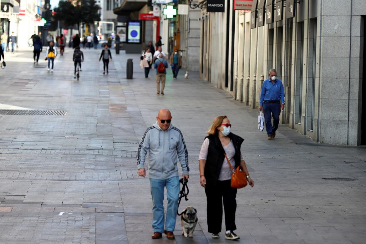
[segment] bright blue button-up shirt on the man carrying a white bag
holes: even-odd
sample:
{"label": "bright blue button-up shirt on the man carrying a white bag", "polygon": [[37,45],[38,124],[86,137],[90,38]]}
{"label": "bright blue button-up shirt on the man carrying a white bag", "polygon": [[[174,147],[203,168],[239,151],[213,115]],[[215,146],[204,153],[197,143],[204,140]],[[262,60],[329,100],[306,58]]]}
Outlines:
{"label": "bright blue button-up shirt on the man carrying a white bag", "polygon": [[271,79],[266,79],[263,82],[259,105],[263,106],[263,101],[277,100],[281,100],[281,103],[285,103],[285,89],[283,88],[281,80],[276,79],[275,83],[272,84]]}

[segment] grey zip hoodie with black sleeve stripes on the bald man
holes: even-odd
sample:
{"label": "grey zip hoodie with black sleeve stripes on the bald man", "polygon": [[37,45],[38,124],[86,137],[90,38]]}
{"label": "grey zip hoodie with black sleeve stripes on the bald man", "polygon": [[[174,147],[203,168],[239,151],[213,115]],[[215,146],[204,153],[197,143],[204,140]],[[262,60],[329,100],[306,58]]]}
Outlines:
{"label": "grey zip hoodie with black sleeve stripes on the bald man", "polygon": [[145,168],[145,157],[149,152],[149,175],[151,179],[165,180],[178,175],[178,160],[183,174],[188,174],[188,151],[182,132],[172,124],[165,131],[156,121],[143,134],[137,152],[137,169]]}

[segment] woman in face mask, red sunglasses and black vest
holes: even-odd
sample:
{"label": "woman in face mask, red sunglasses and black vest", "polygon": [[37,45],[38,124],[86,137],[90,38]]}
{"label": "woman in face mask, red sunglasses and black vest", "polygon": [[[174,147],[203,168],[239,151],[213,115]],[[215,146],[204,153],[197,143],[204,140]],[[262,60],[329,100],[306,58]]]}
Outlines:
{"label": "woman in face mask, red sunglasses and black vest", "polygon": [[240,153],[240,146],[244,139],[231,133],[230,129],[231,124],[228,117],[217,116],[206,132],[209,135],[202,144],[198,160],[200,183],[205,188],[207,198],[208,232],[212,233],[212,238],[220,238],[223,218],[222,202],[224,202],[225,239],[237,240],[240,237],[233,232],[236,230],[237,189],[231,187],[232,169],[226,157],[234,169],[239,165],[242,166],[251,187],[254,186],[254,181],[250,178]]}

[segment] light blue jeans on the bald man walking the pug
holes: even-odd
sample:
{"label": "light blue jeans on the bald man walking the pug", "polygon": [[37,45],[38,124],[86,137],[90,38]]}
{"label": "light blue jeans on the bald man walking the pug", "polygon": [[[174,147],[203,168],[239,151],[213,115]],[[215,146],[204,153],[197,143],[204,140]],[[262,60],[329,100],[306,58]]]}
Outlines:
{"label": "light blue jeans on the bald man walking the pug", "polygon": [[175,220],[178,210],[178,199],[180,192],[179,177],[174,176],[166,180],[150,179],[151,196],[153,199],[153,230],[164,232],[164,187],[167,188],[167,220],[165,230],[174,231]]}

